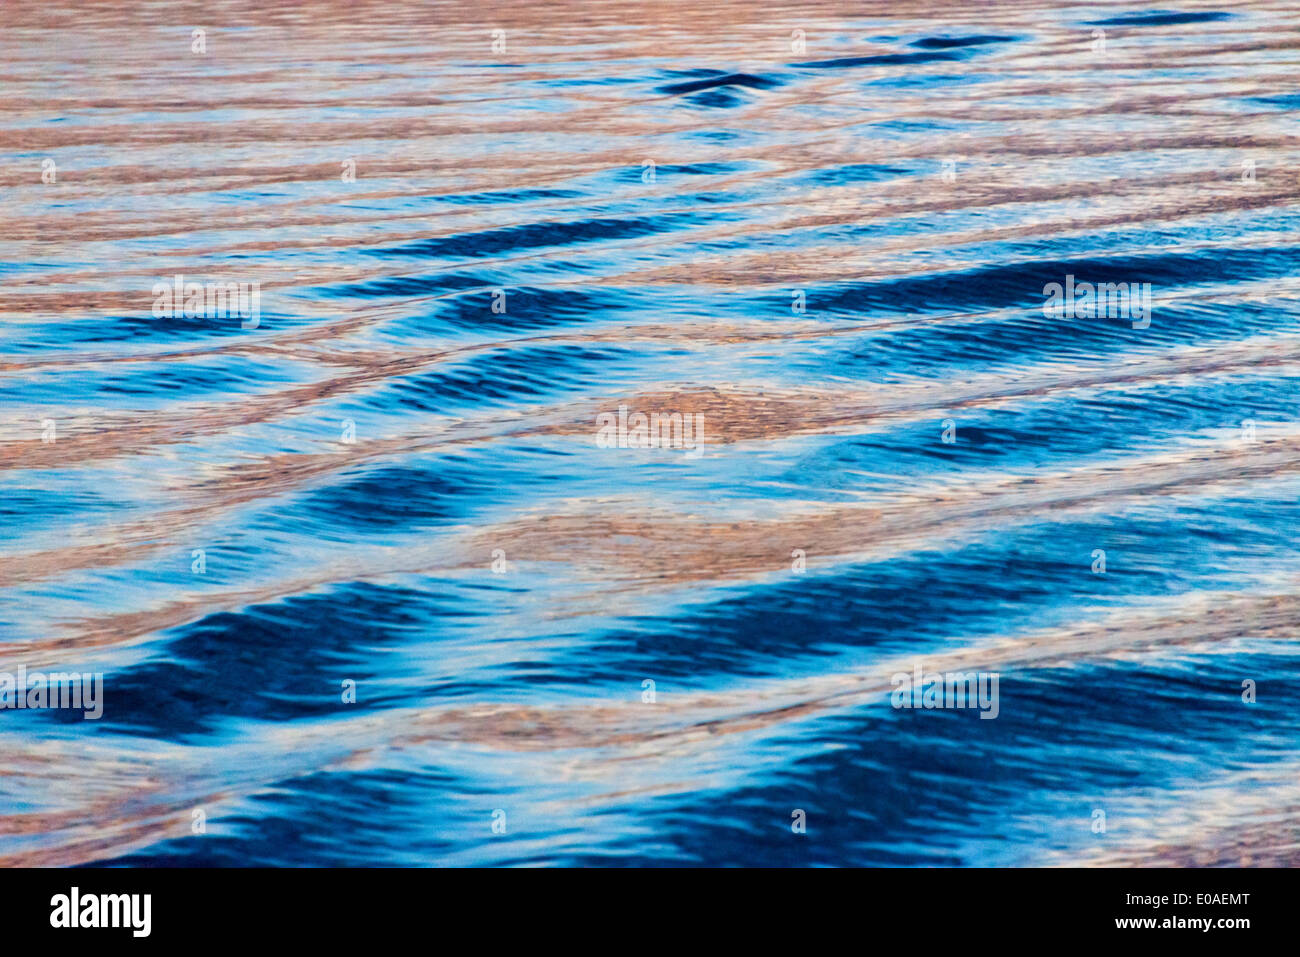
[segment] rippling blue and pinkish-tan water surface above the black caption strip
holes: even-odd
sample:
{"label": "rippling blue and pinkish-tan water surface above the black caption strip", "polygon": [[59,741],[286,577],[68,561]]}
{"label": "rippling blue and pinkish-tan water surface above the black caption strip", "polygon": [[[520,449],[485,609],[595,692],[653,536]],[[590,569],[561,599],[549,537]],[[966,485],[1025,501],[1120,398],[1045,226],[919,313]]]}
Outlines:
{"label": "rippling blue and pinkish-tan water surface above the black caption strip", "polygon": [[0,862],[1300,856],[1294,3],[0,17]]}

